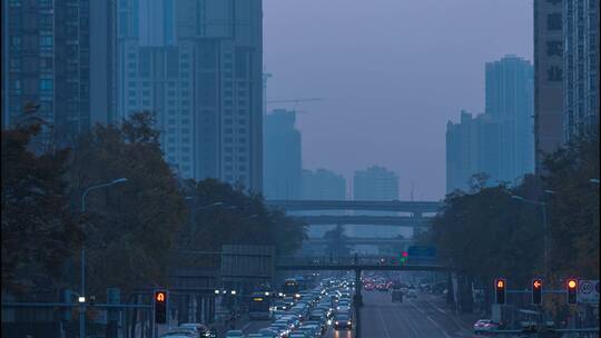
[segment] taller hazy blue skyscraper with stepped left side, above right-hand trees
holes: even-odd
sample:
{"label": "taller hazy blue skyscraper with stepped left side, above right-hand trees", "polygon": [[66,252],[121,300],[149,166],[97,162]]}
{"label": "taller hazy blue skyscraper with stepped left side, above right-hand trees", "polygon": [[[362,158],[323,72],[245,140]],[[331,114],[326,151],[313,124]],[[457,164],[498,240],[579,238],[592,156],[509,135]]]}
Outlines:
{"label": "taller hazy blue skyscraper with stepped left side, above right-hand trees", "polygon": [[486,63],[485,113],[500,126],[499,179],[534,170],[533,69],[515,56]]}

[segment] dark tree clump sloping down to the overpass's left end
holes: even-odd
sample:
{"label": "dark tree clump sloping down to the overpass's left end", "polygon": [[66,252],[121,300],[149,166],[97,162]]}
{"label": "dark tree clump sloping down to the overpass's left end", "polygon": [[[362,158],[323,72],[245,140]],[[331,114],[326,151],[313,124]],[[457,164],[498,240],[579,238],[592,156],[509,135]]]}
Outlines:
{"label": "dark tree clump sloping down to the overpass's left end", "polygon": [[180,232],[181,248],[220,251],[221,245],[262,245],[288,255],[306,238],[305,223],[267,209],[260,195],[216,179],[188,185],[191,221]]}

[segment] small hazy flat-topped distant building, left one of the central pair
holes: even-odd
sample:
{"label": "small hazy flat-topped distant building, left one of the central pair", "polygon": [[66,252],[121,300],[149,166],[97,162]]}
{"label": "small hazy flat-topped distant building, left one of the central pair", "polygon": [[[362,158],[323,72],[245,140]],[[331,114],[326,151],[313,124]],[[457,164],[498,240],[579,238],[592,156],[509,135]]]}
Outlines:
{"label": "small hazy flat-topped distant building, left one of the central pair", "polygon": [[303,169],[303,199],[345,200],[346,180],[342,175],[326,170]]}

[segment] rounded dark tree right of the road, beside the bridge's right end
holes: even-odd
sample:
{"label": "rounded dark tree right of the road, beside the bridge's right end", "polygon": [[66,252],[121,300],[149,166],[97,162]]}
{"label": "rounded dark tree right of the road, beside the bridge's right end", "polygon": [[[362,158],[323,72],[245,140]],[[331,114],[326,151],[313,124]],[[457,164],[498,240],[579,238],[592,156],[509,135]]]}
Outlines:
{"label": "rounded dark tree right of the road, beside the bridge's right end", "polygon": [[513,193],[505,186],[482,186],[473,193],[449,195],[425,235],[443,262],[481,285],[492,286],[500,276],[528,285],[542,262],[542,225],[540,213]]}

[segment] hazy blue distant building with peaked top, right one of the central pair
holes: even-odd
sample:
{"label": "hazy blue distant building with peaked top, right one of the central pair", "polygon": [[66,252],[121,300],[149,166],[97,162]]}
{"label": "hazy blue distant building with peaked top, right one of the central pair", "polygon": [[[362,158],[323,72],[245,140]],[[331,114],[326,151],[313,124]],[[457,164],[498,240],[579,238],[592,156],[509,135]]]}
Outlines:
{"label": "hazy blue distant building with peaked top, right one of the central pair", "polygon": [[355,171],[353,179],[354,200],[397,200],[398,176],[386,168],[372,166]]}

